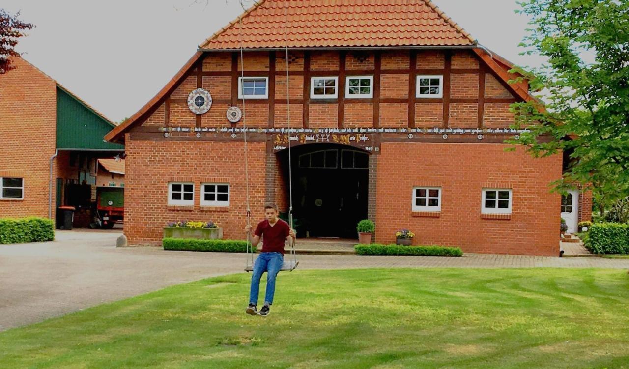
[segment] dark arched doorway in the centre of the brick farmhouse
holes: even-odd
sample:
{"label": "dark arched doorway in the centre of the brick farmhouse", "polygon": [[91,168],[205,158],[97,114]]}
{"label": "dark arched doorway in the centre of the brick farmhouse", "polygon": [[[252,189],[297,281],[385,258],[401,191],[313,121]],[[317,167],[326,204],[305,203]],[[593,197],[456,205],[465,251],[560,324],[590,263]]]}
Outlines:
{"label": "dark arched doorway in the centre of the brick farmhouse", "polygon": [[[286,170],[288,150],[279,153]],[[357,238],[356,224],[367,218],[369,153],[346,145],[313,143],[291,148],[292,206],[302,237]]]}

